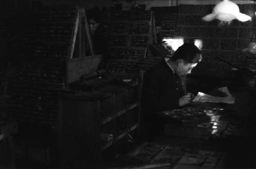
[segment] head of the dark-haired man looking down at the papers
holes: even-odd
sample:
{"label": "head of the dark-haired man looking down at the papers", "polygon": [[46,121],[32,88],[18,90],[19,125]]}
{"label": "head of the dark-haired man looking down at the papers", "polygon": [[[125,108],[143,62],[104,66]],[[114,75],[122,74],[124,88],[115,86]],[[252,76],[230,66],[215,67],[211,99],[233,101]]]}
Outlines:
{"label": "head of the dark-haired man looking down at the papers", "polygon": [[170,58],[176,63],[176,73],[179,76],[190,74],[191,70],[202,60],[201,51],[193,43],[184,43]]}

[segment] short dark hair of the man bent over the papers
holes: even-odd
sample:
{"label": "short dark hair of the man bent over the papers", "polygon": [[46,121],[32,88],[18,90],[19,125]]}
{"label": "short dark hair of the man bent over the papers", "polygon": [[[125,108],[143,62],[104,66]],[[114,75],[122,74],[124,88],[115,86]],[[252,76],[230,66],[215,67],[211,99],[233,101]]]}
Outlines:
{"label": "short dark hair of the man bent over the papers", "polygon": [[185,63],[198,63],[202,60],[201,51],[193,43],[184,43],[170,58],[173,61],[183,59]]}

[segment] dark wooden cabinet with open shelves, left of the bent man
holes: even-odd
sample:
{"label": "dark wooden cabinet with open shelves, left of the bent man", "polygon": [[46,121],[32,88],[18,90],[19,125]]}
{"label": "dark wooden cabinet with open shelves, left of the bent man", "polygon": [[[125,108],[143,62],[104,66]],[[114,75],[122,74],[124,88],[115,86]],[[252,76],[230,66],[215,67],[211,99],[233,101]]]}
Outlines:
{"label": "dark wooden cabinet with open shelves, left of the bent man", "polygon": [[101,162],[139,143],[138,83],[106,85],[98,91],[61,93],[59,148],[62,166]]}

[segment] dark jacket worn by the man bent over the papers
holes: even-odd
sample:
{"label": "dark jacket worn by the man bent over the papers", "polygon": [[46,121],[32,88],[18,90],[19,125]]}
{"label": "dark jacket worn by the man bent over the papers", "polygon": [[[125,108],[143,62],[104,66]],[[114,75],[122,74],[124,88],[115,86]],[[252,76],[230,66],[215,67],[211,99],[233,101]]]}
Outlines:
{"label": "dark jacket worn by the man bent over the papers", "polygon": [[142,111],[144,118],[155,116],[158,111],[179,107],[184,95],[181,78],[173,73],[165,60],[148,69],[143,76]]}

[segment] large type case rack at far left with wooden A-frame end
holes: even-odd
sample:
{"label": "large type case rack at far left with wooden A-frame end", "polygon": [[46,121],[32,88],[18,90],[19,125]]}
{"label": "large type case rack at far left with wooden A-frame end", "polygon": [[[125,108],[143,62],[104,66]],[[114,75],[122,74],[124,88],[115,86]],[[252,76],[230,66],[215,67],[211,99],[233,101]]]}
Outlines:
{"label": "large type case rack at far left with wooden A-frame end", "polygon": [[[96,71],[101,55],[93,53],[83,9],[52,4],[36,6],[28,13],[28,16],[19,18],[24,20],[16,19],[23,22],[19,31],[15,32],[22,39],[15,52],[18,56],[15,56],[15,60],[4,59],[5,66],[0,68],[0,74],[4,77],[1,80],[0,116],[26,126],[19,130],[19,133],[23,133],[20,134],[22,138],[17,138],[15,143],[16,147],[22,148],[22,161],[39,161],[40,165],[48,165],[49,160],[33,157],[30,150],[48,150],[51,147],[54,149],[51,152],[56,152],[58,92],[66,90],[69,83],[77,81],[81,75]],[[13,22],[13,27],[17,27]],[[8,28],[2,26],[1,34],[14,34]],[[9,56],[10,53],[4,53],[4,57],[13,58]],[[39,139],[27,137],[37,133]],[[46,145],[41,147],[41,143]],[[35,154],[38,153],[42,151]],[[56,156],[54,153],[42,158],[50,159],[50,163],[58,163]]]}

